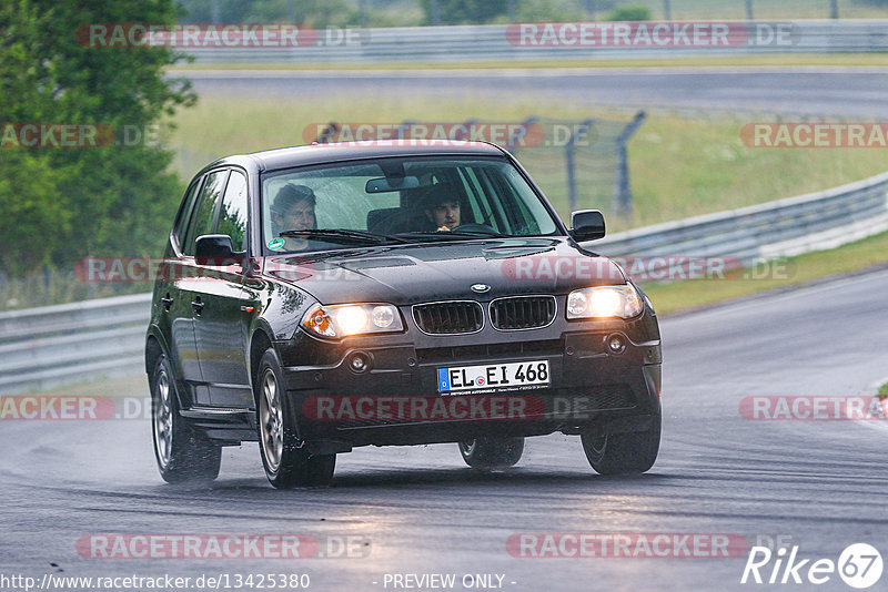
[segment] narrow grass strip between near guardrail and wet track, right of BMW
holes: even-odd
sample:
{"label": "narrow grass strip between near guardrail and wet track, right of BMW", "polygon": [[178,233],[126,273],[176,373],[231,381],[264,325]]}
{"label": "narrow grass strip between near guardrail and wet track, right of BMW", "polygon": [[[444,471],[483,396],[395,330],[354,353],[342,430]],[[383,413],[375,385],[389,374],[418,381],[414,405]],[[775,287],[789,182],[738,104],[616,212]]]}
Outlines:
{"label": "narrow grass strip between near guardrail and wet track, right of BMW", "polygon": [[670,284],[648,282],[642,283],[642,289],[650,297],[658,314],[668,315],[760,292],[790,289],[824,277],[849,274],[876,266],[888,268],[888,233],[870,236],[838,248],[778,261],[775,266],[770,267],[775,269],[773,275],[780,276],[777,278],[727,277]]}

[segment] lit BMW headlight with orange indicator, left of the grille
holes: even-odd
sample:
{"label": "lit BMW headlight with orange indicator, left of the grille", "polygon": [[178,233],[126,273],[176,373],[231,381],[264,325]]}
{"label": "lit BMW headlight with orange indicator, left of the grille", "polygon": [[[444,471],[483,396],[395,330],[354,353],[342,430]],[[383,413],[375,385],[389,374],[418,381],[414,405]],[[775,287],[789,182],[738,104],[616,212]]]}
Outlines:
{"label": "lit BMW headlight with orange indicator, left of the grille", "polygon": [[404,330],[401,314],[391,304],[316,304],[302,317],[301,325],[321,337]]}

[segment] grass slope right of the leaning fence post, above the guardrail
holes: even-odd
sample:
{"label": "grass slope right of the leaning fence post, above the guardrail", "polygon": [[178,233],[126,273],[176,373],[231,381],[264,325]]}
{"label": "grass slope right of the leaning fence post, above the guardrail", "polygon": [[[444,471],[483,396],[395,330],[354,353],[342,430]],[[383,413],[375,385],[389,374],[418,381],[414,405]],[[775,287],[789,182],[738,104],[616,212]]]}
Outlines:
{"label": "grass slope right of the leaning fence post, above the guardrail", "polygon": [[658,116],[646,122],[629,144],[633,224],[769,202],[888,170],[882,150],[747,147],[738,139],[741,123]]}

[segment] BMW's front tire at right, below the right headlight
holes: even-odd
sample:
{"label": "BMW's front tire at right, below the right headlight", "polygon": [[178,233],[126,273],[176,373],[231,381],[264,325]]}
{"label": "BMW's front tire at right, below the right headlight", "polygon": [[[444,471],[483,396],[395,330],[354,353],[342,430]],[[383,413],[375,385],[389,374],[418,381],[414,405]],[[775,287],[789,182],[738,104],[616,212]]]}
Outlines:
{"label": "BMW's front tire at right, below the right headlight", "polygon": [[599,474],[643,473],[654,466],[659,451],[660,416],[646,431],[627,433],[585,432],[583,451]]}

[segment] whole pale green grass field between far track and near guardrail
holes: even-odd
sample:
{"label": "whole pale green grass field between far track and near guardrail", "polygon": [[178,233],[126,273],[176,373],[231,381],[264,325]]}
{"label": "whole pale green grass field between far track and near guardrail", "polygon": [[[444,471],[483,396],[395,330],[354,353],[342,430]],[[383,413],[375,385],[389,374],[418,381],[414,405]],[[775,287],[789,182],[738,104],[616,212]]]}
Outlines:
{"label": "whole pale green grass field between far track and near guardrail", "polygon": [[[176,164],[190,178],[220,156],[302,144],[303,131],[311,123],[455,122],[473,118],[509,122],[532,114],[574,121],[627,120],[630,115],[521,98],[506,102],[418,94],[261,100],[203,95],[196,108],[178,116],[179,127],[171,141],[179,149]],[[704,121],[650,114],[629,144],[636,213],[629,220],[608,215],[612,232],[819,191],[888,170],[888,152],[880,150],[747,147],[740,142],[740,127],[749,121],[769,119],[720,118]],[[518,159],[559,215],[569,220],[563,149],[524,149],[518,151]],[[593,152],[577,153],[578,207],[598,207],[608,213],[612,169]]]}

